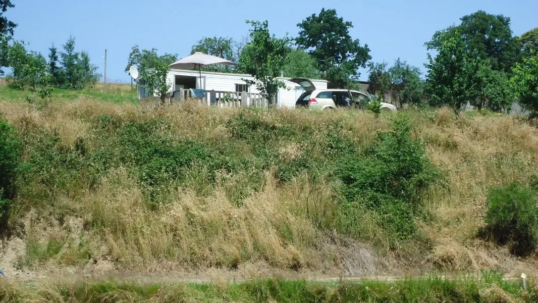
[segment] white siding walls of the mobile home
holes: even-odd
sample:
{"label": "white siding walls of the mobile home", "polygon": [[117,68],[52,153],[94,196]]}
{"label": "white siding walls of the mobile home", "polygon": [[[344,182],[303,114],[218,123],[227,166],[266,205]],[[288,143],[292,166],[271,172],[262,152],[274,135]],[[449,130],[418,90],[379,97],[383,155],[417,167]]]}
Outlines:
{"label": "white siding walls of the mobile home", "polygon": [[[196,87],[200,86],[200,74],[197,71],[180,71],[172,70],[168,72],[167,81],[169,81],[170,90],[173,90],[175,84],[175,75],[181,76],[193,76],[196,77]],[[253,80],[252,76],[237,75],[237,74],[223,74],[223,73],[208,73],[202,72],[202,88],[206,90],[220,90],[220,91],[235,91],[235,84],[245,84],[243,79]],[[295,108],[296,100],[296,87],[299,85],[293,82],[289,82],[289,78],[279,78],[286,83],[285,89],[279,90],[279,106],[287,108]],[[324,80],[312,80],[312,83],[317,89],[327,89],[327,81]],[[250,86],[250,93],[259,93],[256,86]]]}

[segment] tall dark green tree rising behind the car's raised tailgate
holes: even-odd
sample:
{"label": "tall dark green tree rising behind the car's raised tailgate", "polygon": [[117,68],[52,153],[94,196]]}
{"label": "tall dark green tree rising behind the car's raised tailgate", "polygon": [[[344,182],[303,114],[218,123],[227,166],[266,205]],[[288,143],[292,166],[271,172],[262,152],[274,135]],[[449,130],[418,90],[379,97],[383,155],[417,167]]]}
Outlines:
{"label": "tall dark green tree rising behind the car's raised tailgate", "polygon": [[360,46],[353,40],[349,29],[351,22],[344,22],[336,10],[325,10],[316,16],[307,17],[297,26],[301,29],[296,44],[309,51],[316,58],[324,79],[332,88],[345,88],[350,78],[356,80],[359,67],[366,67],[372,57],[367,45]]}

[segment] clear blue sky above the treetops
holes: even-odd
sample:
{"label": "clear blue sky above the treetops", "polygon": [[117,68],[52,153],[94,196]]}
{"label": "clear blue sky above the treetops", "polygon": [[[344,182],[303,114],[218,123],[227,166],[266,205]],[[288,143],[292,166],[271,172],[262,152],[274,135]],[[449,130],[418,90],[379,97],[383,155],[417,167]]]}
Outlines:
{"label": "clear blue sky above the treetops", "polygon": [[[131,46],[157,48],[159,53],[185,57],[202,37],[247,36],[245,19],[269,21],[277,36],[298,33],[296,26],[322,7],[334,8],[353,22],[353,38],[369,45],[372,60],[393,62],[400,57],[423,69],[424,42],[436,30],[458,23],[477,10],[512,19],[514,34],[538,27],[538,0],[374,0],[374,1],[257,1],[257,0],[12,0],[15,8],[6,16],[18,23],[15,38],[30,43],[30,50],[45,56],[54,43],[61,47],[69,35],[77,50],[89,52],[103,73],[104,50],[108,50],[109,81],[129,81],[124,72]],[[364,79],[365,72],[361,78]]]}

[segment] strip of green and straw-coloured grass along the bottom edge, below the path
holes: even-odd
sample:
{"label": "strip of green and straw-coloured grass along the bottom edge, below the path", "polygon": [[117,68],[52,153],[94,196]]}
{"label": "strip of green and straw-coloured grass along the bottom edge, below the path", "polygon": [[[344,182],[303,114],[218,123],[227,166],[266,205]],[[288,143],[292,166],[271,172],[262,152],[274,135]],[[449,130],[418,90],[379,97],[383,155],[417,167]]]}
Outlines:
{"label": "strip of green and straw-coloured grass along the bottom edge, below the path", "polygon": [[245,283],[145,284],[89,282],[57,283],[48,288],[20,286],[3,281],[5,302],[46,302],[51,298],[70,302],[534,302],[534,282],[527,292],[518,281],[484,273],[482,279],[437,277],[386,281],[340,281],[266,279]]}

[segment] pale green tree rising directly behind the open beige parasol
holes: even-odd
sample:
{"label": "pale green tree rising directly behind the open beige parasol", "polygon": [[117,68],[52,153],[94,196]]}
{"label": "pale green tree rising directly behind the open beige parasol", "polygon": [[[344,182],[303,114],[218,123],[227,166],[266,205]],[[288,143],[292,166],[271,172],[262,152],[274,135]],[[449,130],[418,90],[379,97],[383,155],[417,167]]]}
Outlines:
{"label": "pale green tree rising directly behind the open beige parasol", "polygon": [[[195,45],[193,45],[190,51],[190,54],[194,54],[196,52],[202,52],[204,54],[214,55],[216,57],[230,60],[232,62],[236,61],[237,59],[233,52],[233,39],[231,38],[204,37],[203,39],[199,40]],[[224,66],[224,65],[211,65],[211,66],[203,67],[202,69],[209,72],[226,73],[226,72],[232,72],[236,68],[231,67],[231,66]]]}

